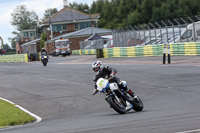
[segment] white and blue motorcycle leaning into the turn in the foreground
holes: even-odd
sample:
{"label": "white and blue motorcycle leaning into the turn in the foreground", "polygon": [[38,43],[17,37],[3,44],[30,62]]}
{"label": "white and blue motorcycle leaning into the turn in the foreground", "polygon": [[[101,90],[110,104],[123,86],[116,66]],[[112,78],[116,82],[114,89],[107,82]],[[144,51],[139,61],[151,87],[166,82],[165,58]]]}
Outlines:
{"label": "white and blue motorcycle leaning into the turn in the foreground", "polygon": [[[125,81],[122,81],[126,84]],[[123,89],[120,89],[117,83],[109,83],[109,79],[99,78],[97,80],[97,90],[104,95],[105,100],[119,114],[125,114],[131,109],[136,112],[144,108],[142,100],[135,94],[134,97],[129,95]]]}

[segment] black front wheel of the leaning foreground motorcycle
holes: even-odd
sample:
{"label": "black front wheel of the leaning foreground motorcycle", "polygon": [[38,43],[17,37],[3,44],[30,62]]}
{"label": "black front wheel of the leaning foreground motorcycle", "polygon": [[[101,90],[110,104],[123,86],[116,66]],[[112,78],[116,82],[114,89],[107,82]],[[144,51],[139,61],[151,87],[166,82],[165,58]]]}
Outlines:
{"label": "black front wheel of the leaning foreground motorcycle", "polygon": [[115,98],[112,96],[109,96],[107,99],[107,102],[110,104],[110,106],[119,114],[125,114],[126,113],[126,109],[125,107],[120,107],[115,101]]}

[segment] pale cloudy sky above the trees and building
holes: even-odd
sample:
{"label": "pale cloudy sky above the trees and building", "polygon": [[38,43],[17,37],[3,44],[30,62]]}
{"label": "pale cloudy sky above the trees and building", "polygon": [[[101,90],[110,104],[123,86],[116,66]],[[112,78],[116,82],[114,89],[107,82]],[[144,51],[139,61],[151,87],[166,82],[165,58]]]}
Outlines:
{"label": "pale cloudy sky above the trees and building", "polygon": [[[68,0],[68,3],[87,3],[89,6],[93,0]],[[11,34],[15,28],[11,25],[11,13],[18,5],[26,5],[29,11],[35,11],[39,18],[43,17],[44,11],[48,8],[57,8],[61,10],[63,8],[63,0],[0,0],[0,36],[4,40],[4,44],[10,42],[9,37],[13,37]]]}

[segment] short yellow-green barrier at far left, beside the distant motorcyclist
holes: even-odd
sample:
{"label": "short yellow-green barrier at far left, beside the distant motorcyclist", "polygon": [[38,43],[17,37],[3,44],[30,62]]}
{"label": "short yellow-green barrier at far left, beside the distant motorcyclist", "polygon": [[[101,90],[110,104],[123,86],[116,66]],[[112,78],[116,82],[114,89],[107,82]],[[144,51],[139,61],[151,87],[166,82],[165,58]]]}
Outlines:
{"label": "short yellow-green barrier at far left, beside the distant motorcyclist", "polygon": [[25,63],[28,62],[27,54],[1,55],[0,63]]}

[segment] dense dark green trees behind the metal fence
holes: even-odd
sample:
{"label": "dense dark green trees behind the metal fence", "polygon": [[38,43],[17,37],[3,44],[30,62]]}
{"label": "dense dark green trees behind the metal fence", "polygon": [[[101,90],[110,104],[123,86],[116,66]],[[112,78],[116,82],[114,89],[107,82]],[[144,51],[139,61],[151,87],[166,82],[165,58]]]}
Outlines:
{"label": "dense dark green trees behind the metal fence", "polygon": [[200,0],[97,0],[90,12],[100,13],[99,27],[115,29],[200,15]]}

